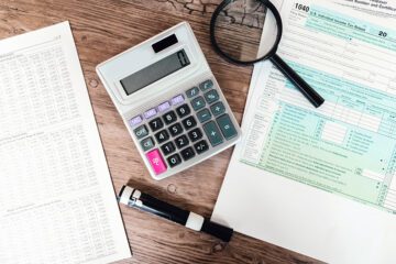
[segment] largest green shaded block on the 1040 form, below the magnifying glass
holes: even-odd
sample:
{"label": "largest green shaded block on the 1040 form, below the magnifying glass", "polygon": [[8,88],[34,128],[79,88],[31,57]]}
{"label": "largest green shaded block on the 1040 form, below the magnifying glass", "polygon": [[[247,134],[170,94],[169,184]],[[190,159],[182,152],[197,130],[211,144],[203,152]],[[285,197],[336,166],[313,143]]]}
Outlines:
{"label": "largest green shaded block on the 1040 form, below the magnifying glass", "polygon": [[260,162],[242,162],[382,208],[392,178],[375,180],[362,173],[391,176],[396,140],[339,122],[346,129],[343,141],[326,141],[321,139],[326,122],[337,121],[292,105],[280,106]]}

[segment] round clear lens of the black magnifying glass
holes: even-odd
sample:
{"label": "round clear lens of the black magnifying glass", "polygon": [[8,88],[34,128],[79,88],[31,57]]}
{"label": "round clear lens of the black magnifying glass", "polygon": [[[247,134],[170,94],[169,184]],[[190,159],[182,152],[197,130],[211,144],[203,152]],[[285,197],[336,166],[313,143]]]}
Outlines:
{"label": "round clear lens of the black magnifying glass", "polygon": [[257,0],[224,1],[213,30],[220,52],[241,63],[270,55],[278,33],[272,11]]}

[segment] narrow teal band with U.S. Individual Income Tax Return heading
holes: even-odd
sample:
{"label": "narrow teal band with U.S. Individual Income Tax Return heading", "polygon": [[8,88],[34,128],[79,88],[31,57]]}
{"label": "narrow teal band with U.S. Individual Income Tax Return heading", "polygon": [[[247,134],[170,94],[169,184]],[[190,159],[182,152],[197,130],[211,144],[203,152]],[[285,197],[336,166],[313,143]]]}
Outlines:
{"label": "narrow teal band with U.S. Individual Income Tax Return heading", "polygon": [[396,31],[348,18],[318,6],[310,7],[306,26],[343,40],[359,40],[396,51]]}

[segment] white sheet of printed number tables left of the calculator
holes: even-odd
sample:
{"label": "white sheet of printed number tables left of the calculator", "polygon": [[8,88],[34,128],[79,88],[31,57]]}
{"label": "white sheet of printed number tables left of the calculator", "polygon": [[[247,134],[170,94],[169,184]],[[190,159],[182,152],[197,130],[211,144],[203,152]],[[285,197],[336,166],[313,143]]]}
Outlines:
{"label": "white sheet of printed number tables left of the calculator", "polygon": [[0,263],[131,256],[67,22],[0,42]]}

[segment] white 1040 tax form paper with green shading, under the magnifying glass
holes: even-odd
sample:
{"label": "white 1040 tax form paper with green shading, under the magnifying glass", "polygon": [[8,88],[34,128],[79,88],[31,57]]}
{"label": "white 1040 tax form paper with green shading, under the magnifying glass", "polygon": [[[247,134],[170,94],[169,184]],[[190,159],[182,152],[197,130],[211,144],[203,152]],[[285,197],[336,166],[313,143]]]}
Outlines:
{"label": "white 1040 tax form paper with green shading, under the magnifying glass", "polygon": [[330,263],[396,263],[396,21],[329,1],[277,6],[278,54],[326,102],[255,66],[212,219]]}

